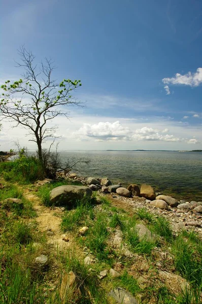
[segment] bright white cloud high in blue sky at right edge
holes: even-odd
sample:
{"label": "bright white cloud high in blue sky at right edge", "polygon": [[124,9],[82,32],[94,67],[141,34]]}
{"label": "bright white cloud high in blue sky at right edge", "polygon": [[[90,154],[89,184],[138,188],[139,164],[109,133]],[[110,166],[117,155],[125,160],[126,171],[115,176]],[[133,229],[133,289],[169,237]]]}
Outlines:
{"label": "bright white cloud high in blue sky at right edge", "polygon": [[162,82],[166,85],[185,85],[190,87],[198,87],[202,83],[202,67],[197,68],[196,72],[181,75],[175,74],[172,78],[163,78]]}

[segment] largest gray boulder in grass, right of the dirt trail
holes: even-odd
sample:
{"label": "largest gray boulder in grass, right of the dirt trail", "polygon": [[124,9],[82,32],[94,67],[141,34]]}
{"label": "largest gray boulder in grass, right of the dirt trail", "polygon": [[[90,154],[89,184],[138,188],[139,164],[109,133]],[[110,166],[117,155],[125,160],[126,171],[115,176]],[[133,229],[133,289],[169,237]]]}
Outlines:
{"label": "largest gray boulder in grass, right of the dirt trail", "polygon": [[52,189],[50,193],[50,203],[55,205],[74,205],[76,201],[84,196],[90,197],[91,189],[85,186],[64,185]]}

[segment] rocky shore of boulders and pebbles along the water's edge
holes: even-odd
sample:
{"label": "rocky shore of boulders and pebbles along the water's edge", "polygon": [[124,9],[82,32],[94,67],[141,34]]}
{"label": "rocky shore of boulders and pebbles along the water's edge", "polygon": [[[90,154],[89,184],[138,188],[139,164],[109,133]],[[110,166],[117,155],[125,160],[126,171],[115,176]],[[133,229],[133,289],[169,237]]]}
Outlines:
{"label": "rocky shore of boulders and pebbles along the water's edge", "polygon": [[84,185],[97,191],[100,196],[108,196],[117,201],[120,207],[131,206],[133,209],[146,208],[155,215],[166,217],[173,227],[174,233],[181,230],[195,230],[202,238],[202,202],[177,200],[171,196],[155,193],[147,184],[141,186],[130,184],[127,188],[121,183],[113,185],[108,178],[81,177],[76,173],[64,176],[76,185]]}

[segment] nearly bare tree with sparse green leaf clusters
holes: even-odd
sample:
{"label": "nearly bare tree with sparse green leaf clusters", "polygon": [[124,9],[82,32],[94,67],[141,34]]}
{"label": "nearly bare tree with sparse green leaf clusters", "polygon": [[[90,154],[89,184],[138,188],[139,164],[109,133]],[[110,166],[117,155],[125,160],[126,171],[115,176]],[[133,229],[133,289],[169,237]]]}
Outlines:
{"label": "nearly bare tree with sparse green leaf clusters", "polygon": [[4,93],[0,99],[2,119],[8,119],[29,130],[30,141],[38,146],[38,158],[43,162],[42,142],[47,137],[54,137],[55,127],[47,123],[57,116],[68,118],[70,112],[64,108],[71,105],[82,105],[73,95],[81,86],[80,80],[64,79],[61,83],[52,80],[53,61],[45,58],[38,66],[31,51],[21,47],[18,51],[20,63],[24,68],[21,79],[15,82],[6,81],[1,88]]}

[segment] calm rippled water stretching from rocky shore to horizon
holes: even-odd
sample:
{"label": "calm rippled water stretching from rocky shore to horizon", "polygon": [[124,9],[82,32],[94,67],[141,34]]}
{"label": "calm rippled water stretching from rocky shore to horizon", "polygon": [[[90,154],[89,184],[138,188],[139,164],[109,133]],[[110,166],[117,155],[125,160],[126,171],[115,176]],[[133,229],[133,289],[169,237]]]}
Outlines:
{"label": "calm rippled water stretching from rocky shore to horizon", "polygon": [[156,151],[62,151],[61,157],[85,158],[80,175],[109,177],[113,183],[148,183],[177,198],[202,200],[202,153]]}

